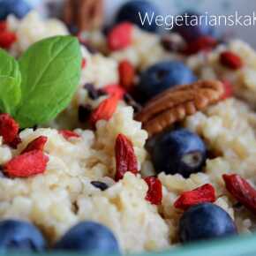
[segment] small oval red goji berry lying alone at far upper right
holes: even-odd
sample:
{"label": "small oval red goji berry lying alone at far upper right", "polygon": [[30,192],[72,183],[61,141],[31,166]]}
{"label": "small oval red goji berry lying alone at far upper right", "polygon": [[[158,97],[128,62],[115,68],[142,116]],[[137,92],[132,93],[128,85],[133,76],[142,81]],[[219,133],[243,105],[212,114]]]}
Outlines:
{"label": "small oval red goji berry lying alone at far upper right", "polygon": [[243,67],[243,61],[240,56],[237,56],[232,51],[223,51],[220,55],[220,62],[227,68],[238,70]]}

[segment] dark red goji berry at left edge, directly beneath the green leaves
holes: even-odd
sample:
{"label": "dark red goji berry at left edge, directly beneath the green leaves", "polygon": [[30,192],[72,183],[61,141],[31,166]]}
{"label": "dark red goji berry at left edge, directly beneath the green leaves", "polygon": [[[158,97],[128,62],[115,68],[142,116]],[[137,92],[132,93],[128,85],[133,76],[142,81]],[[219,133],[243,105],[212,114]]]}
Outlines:
{"label": "dark red goji berry at left edge, directly beneath the green leaves", "polygon": [[0,136],[3,137],[4,143],[9,144],[17,138],[19,133],[19,124],[9,115],[0,115]]}

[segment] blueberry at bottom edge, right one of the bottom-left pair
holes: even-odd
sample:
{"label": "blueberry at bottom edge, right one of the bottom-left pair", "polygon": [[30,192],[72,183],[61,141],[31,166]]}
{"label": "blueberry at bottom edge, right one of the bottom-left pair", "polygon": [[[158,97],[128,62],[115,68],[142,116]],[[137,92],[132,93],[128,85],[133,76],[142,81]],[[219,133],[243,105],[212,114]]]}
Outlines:
{"label": "blueberry at bottom edge, right one of the bottom-left pair", "polygon": [[58,251],[84,252],[86,254],[119,254],[116,237],[97,222],[80,222],[72,227],[54,246]]}

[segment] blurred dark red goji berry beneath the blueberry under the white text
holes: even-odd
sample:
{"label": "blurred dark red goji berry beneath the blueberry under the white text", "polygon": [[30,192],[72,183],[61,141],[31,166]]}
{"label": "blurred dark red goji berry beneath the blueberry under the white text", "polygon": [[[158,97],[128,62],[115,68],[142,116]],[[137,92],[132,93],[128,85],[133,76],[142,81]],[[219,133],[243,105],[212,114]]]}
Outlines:
{"label": "blurred dark red goji berry beneath the blueberry under the white text", "polygon": [[192,41],[187,45],[187,48],[184,49],[184,54],[192,55],[202,50],[208,51],[215,48],[216,45],[217,45],[217,41],[214,37],[201,36],[197,40]]}

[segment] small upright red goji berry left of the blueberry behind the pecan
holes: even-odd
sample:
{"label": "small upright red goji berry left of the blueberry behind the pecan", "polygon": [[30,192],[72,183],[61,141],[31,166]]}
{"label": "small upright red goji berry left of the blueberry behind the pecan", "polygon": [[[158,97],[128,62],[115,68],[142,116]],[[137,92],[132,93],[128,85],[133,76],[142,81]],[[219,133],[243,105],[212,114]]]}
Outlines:
{"label": "small upright red goji berry left of the blueberry behind the pecan", "polygon": [[135,69],[133,65],[128,60],[124,60],[119,63],[118,71],[120,85],[128,91],[131,90],[135,78]]}

